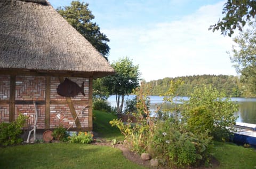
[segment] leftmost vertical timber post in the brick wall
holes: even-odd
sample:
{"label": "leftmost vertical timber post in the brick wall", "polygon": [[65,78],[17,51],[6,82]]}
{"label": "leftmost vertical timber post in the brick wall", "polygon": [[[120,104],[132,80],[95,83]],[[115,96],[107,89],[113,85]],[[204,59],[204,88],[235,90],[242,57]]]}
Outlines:
{"label": "leftmost vertical timber post in the brick wall", "polygon": [[10,76],[10,100],[9,100],[9,122],[15,120],[15,90],[16,90],[16,76]]}

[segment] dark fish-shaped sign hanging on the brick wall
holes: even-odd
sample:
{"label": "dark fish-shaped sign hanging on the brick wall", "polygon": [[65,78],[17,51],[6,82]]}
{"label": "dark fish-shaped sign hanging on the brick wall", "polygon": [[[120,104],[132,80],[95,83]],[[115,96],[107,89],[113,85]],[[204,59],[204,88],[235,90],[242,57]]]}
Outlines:
{"label": "dark fish-shaped sign hanging on the brick wall", "polygon": [[84,96],[84,82],[82,83],[82,86],[79,87],[78,84],[76,84],[73,81],[70,81],[70,79],[65,78],[65,81],[60,83],[57,88],[57,93],[61,96],[65,97],[72,97],[78,95],[78,93],[81,92]]}

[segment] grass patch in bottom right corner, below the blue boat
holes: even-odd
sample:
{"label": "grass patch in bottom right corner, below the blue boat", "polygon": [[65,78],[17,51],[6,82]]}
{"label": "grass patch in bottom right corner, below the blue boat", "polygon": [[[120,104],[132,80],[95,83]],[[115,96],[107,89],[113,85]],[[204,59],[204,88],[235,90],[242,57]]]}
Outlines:
{"label": "grass patch in bottom right corner, below the blue boat", "polygon": [[214,142],[212,152],[220,162],[218,169],[256,168],[256,149],[233,143]]}

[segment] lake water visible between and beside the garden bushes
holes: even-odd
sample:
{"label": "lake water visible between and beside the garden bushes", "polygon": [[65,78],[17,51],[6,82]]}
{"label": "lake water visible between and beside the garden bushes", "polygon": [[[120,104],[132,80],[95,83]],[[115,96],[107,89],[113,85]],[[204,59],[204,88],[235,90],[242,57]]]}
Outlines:
{"label": "lake water visible between and beside the garden bushes", "polygon": [[[125,99],[132,99],[135,95],[125,96]],[[163,103],[163,97],[161,96],[149,96],[150,98],[150,110],[154,112],[157,105]],[[177,97],[175,102],[182,103],[179,100],[188,100],[188,97]],[[256,124],[256,98],[230,98],[231,101],[236,102],[239,105],[238,112],[235,112],[237,122]],[[108,98],[108,102],[112,107],[116,106],[116,97],[111,95]],[[125,105],[124,105],[125,106]],[[163,108],[169,108],[170,104],[164,104]]]}

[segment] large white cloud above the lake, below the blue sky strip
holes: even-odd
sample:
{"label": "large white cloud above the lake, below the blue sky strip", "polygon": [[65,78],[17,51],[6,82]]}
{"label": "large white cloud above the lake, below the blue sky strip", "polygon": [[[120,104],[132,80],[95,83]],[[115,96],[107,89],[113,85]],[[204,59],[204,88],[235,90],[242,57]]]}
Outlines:
{"label": "large white cloud above the lake, below the blue sky strip", "polygon": [[102,30],[111,39],[109,59],[132,58],[146,81],[197,74],[235,75],[226,54],[232,39],[208,30],[221,18],[222,7],[220,2],[171,22]]}

